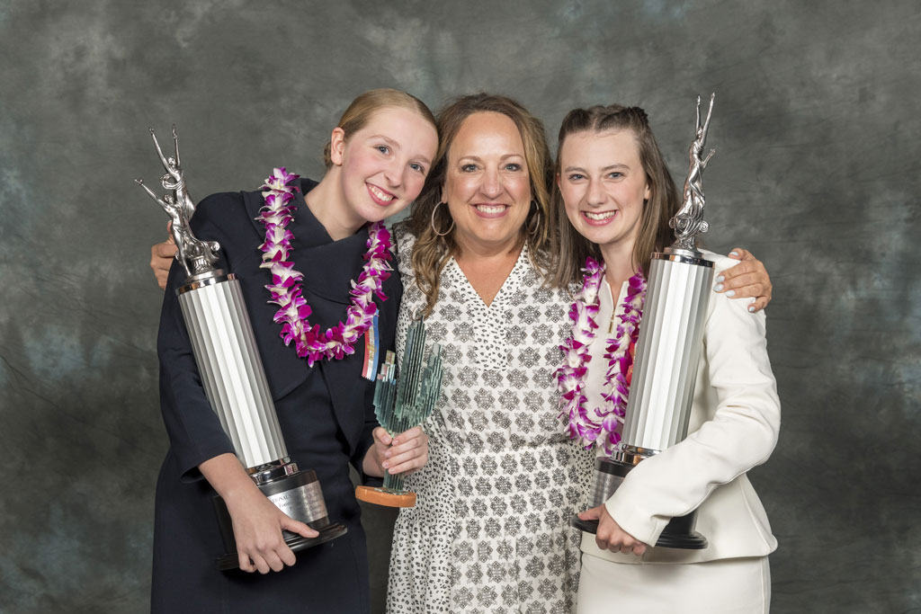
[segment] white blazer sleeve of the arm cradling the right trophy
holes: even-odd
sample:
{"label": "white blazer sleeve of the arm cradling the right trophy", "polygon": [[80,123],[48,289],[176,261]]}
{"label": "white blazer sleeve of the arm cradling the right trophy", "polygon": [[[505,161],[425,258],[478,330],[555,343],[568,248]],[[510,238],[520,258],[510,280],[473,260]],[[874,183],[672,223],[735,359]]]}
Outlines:
{"label": "white blazer sleeve of the arm cradling the right trophy", "polygon": [[[717,272],[735,263],[723,258]],[[717,486],[767,460],[777,442],[780,400],[764,311],[751,314],[746,301],[721,294],[711,301],[703,359],[715,411],[694,407],[709,419],[682,442],[639,463],[606,503],[614,520],[647,544],[656,543],[670,518],[690,513]],[[700,393],[695,391],[695,398],[714,397]]]}

